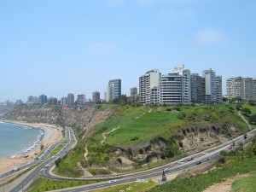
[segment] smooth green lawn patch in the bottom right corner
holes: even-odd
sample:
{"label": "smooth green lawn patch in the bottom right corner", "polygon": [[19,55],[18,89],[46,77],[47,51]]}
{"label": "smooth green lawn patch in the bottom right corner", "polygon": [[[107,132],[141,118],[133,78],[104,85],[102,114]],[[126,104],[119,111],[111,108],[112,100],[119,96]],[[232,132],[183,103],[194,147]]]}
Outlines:
{"label": "smooth green lawn patch in the bottom right corner", "polygon": [[248,177],[241,177],[232,183],[232,189],[234,192],[252,192],[256,191],[256,173],[249,175]]}

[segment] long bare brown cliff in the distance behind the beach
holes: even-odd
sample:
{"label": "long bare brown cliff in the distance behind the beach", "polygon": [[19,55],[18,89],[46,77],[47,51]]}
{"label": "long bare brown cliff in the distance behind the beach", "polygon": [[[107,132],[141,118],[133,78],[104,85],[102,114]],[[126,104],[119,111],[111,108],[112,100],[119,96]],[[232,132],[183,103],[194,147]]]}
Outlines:
{"label": "long bare brown cliff in the distance behind the beach", "polygon": [[74,109],[61,110],[58,107],[22,106],[3,111],[3,119],[66,125],[84,131],[84,137],[90,134],[90,131],[96,124],[105,121],[113,115],[111,109],[99,110],[93,107],[78,111]]}

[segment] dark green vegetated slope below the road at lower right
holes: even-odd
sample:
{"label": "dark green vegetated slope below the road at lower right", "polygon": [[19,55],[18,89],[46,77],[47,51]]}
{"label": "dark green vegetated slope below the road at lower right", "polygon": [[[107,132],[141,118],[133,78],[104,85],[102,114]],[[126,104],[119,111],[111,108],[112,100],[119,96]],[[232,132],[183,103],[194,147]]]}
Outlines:
{"label": "dark green vegetated slope below the road at lower right", "polygon": [[151,189],[150,192],[200,192],[212,186],[214,183],[222,183],[227,178],[235,177],[237,174],[243,175],[250,172],[253,172],[250,177],[241,178],[235,186],[236,189],[239,189],[237,191],[254,191],[255,187],[252,188],[253,190],[246,190],[249,185],[247,182],[253,181],[254,183],[256,177],[256,137],[253,137],[252,143],[253,144],[248,148],[242,148],[241,144],[239,144],[233,151],[229,153],[222,153],[224,155],[222,158],[222,164],[218,164],[216,169],[209,171],[207,174],[174,179],[172,182],[168,182]]}

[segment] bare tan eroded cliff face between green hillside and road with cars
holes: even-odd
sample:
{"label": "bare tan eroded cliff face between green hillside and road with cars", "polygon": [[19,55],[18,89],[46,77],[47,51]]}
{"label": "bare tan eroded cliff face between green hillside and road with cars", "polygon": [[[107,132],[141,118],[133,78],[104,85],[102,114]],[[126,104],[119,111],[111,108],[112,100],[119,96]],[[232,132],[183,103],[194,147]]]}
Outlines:
{"label": "bare tan eroded cliff face between green hillside and road with cars", "polygon": [[171,140],[156,137],[148,143],[137,143],[118,148],[115,153],[109,154],[112,157],[112,160],[109,161],[110,166],[124,169],[131,168],[134,163],[142,166],[149,162],[165,160],[180,152],[195,154],[228,142],[239,135],[236,127],[221,123],[183,125],[179,127],[179,130]]}

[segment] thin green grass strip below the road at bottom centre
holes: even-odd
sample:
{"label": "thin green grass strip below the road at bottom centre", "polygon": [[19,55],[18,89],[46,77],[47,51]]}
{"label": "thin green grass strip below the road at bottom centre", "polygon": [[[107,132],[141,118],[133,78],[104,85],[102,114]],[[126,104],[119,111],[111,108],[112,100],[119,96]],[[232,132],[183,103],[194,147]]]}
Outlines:
{"label": "thin green grass strip below the road at bottom centre", "polygon": [[[94,190],[94,192],[117,192],[119,190],[125,190],[125,191],[130,191],[130,192],[139,192],[139,191],[145,191],[146,189],[150,189],[154,187],[156,183],[154,183],[152,180],[149,180],[148,183],[128,183],[128,184],[123,184],[115,187],[109,187],[105,189],[100,189],[100,190]],[[126,190],[128,189],[129,190]]]}

